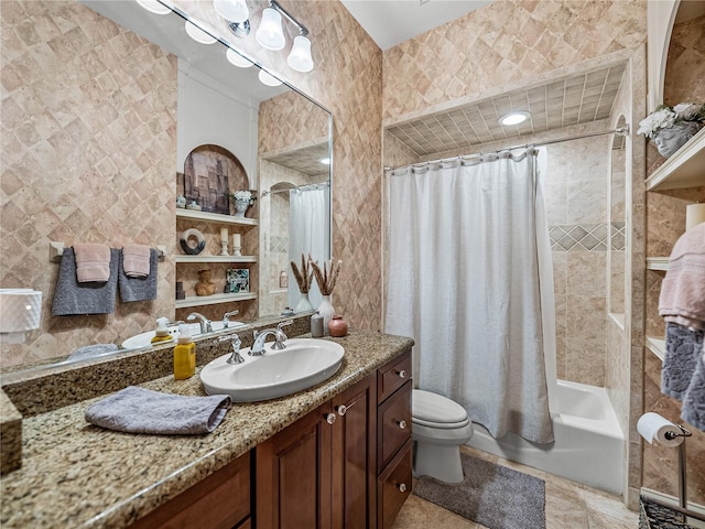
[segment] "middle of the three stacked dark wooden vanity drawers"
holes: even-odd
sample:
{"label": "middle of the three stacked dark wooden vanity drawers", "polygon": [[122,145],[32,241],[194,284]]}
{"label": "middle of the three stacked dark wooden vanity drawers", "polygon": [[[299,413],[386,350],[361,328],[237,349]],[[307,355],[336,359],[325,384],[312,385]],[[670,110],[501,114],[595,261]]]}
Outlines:
{"label": "middle of the three stacked dark wooden vanity drawers", "polygon": [[410,380],[378,408],[377,429],[377,472],[379,473],[411,438]]}

